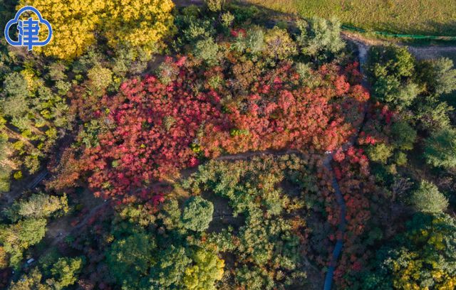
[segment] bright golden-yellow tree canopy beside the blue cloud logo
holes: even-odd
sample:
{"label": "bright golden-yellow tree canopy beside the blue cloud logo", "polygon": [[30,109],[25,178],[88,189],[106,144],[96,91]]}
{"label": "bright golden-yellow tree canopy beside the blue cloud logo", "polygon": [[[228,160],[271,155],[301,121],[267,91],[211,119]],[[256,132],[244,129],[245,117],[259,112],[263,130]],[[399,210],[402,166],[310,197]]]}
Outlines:
{"label": "bright golden-yellow tree canopy beside the blue cloud logo", "polygon": [[[38,9],[53,28],[51,42],[34,49],[65,60],[83,54],[97,37],[111,48],[125,43],[153,53],[174,31],[172,0],[21,0],[18,9],[25,5]],[[40,35],[46,37],[46,26]]]}

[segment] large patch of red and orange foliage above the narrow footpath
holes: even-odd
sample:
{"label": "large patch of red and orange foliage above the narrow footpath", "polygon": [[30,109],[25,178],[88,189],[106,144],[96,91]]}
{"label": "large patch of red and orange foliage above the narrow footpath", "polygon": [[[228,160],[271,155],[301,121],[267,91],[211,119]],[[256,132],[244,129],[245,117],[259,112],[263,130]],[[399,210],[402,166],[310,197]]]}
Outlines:
{"label": "large patch of red and orange foliage above the narrow footpath", "polygon": [[[197,166],[202,157],[334,150],[355,132],[369,97],[361,85],[348,82],[359,81],[356,63],[345,70],[321,66],[314,72],[321,82],[312,88],[301,85],[296,70],[284,63],[261,75],[246,95],[227,101],[227,90],[204,86],[210,73],[197,71],[185,58],[167,62],[178,72],[171,82],[148,75],[103,98],[96,118],[110,129],[98,134],[97,146],[78,152],[71,163],[76,173],[66,169],[67,184],[87,173],[98,195],[131,201],[145,198],[145,188],[155,181]],[[212,70],[223,74],[222,68]],[[205,89],[198,89],[201,82]]]}

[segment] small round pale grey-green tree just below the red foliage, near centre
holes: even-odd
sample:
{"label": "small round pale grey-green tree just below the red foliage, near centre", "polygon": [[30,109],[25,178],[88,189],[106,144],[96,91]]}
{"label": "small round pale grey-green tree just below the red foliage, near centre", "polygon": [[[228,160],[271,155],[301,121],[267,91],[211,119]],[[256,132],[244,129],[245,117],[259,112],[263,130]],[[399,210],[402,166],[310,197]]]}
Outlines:
{"label": "small round pale grey-green tree just below the red foliage, near centre", "polygon": [[187,200],[182,212],[182,223],[187,230],[203,232],[209,227],[214,205],[209,200],[194,196]]}

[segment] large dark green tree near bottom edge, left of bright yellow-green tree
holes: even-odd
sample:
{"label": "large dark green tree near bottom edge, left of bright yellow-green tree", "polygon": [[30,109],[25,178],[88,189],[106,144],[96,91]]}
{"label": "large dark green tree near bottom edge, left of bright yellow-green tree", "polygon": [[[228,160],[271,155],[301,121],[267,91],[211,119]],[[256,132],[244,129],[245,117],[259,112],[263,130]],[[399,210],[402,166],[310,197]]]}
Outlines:
{"label": "large dark green tree near bottom edge, left of bright yellow-green tree", "polygon": [[125,289],[140,289],[148,284],[155,240],[145,233],[135,233],[116,240],[106,253],[111,274]]}

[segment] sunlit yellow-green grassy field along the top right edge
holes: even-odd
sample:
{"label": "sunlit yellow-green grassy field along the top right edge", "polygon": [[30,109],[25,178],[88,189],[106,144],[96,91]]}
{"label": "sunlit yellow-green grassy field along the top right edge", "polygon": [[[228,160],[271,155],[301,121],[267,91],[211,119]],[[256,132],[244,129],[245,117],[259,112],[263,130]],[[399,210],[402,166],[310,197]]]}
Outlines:
{"label": "sunlit yellow-green grassy field along the top right edge", "polygon": [[336,16],[343,24],[391,33],[456,36],[455,0],[244,0],[304,17]]}

